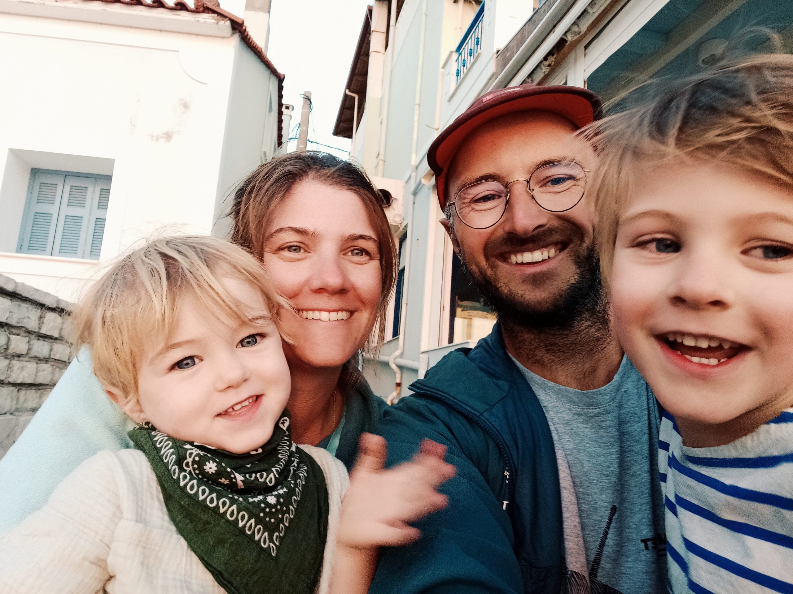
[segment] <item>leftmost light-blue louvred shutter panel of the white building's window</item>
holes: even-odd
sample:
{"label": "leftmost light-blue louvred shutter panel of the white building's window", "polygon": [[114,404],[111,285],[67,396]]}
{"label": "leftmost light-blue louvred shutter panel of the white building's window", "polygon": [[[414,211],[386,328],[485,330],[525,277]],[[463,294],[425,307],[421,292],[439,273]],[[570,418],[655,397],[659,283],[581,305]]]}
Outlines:
{"label": "leftmost light-blue louvred shutter panel of the white building's window", "polygon": [[17,246],[21,253],[52,254],[63,181],[64,176],[57,173],[33,173],[28,210]]}

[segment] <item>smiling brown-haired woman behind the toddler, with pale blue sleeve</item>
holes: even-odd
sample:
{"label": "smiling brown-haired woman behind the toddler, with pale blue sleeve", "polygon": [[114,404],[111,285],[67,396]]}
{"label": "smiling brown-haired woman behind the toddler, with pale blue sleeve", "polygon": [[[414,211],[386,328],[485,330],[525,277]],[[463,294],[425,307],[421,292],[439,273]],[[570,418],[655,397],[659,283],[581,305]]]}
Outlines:
{"label": "smiling brown-haired woman behind the toddler, with pale blue sleeve", "polygon": [[[296,307],[284,324],[293,341],[285,345],[293,439],[327,447],[349,468],[358,436],[374,430],[385,407],[358,371],[373,329],[382,333],[396,278],[381,196],[349,162],[292,153],[247,177],[232,215],[232,241],[259,257]],[[129,428],[81,352],[0,460],[0,534],[44,505],[83,460],[132,447]]]}

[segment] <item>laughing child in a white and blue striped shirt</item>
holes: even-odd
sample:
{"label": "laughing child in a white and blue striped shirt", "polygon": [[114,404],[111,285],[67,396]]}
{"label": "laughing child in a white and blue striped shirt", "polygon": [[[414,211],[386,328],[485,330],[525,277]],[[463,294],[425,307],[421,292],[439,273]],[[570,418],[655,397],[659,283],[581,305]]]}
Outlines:
{"label": "laughing child in a white and blue striped shirt", "polygon": [[615,330],[666,413],[669,591],[793,592],[793,55],[604,120]]}

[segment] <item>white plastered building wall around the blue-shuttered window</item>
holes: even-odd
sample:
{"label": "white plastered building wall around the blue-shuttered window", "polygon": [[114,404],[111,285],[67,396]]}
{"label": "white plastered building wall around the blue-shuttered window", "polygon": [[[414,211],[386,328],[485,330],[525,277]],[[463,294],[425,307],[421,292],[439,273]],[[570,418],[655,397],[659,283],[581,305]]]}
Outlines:
{"label": "white plastered building wall around the blue-shuttered window", "polygon": [[[0,61],[0,273],[16,280],[75,299],[99,269],[13,253],[31,167],[112,173],[101,262],[159,227],[209,233],[218,199],[258,164],[266,70],[237,36],[0,14],[0,55],[13,56]],[[232,93],[232,73],[249,89]],[[258,129],[227,116],[230,93]]]}

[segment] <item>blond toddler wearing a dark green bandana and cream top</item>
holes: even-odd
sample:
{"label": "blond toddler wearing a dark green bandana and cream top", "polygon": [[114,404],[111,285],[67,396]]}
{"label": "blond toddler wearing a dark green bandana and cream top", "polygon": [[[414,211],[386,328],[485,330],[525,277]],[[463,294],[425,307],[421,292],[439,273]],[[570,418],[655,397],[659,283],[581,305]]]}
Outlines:
{"label": "blond toddler wearing a dark green bandana and cream top", "polygon": [[366,592],[454,470],[431,444],[382,470],[368,436],[342,506],[343,464],[290,437],[284,307],[218,238],[157,239],[98,280],[76,332],[136,449],[86,460],[0,539],[0,592]]}

